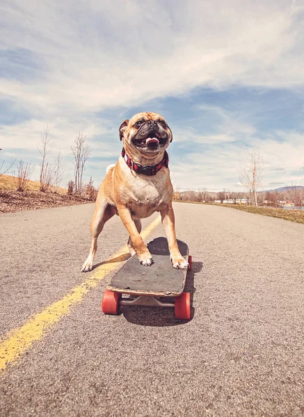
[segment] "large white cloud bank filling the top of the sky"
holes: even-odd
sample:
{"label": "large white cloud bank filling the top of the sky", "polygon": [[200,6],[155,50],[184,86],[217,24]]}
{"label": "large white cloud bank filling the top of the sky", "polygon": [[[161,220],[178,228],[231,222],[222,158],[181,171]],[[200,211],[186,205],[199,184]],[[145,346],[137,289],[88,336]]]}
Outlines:
{"label": "large white cloud bank filling the top of the sky", "polygon": [[3,44],[30,49],[46,70],[26,84],[4,81],[1,93],[58,115],[130,106],[197,85],[303,84],[298,3],[189,1],[179,2],[179,11],[169,4],[172,10],[157,1],[6,3]]}

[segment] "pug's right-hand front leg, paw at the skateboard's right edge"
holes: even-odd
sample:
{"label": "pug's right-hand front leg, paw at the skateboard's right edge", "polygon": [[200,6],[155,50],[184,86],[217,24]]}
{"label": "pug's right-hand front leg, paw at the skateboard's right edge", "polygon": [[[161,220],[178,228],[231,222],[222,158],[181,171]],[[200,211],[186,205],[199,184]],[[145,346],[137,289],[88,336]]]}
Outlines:
{"label": "pug's right-hand front leg, paw at the skateboard's right edge", "polygon": [[165,230],[168,247],[170,251],[170,259],[173,263],[174,268],[176,269],[187,269],[188,262],[184,259],[184,256],[179,252],[179,248],[176,241],[175,235],[175,216],[173,211],[172,204],[168,204],[166,208],[161,211],[161,223],[163,224],[163,229]]}

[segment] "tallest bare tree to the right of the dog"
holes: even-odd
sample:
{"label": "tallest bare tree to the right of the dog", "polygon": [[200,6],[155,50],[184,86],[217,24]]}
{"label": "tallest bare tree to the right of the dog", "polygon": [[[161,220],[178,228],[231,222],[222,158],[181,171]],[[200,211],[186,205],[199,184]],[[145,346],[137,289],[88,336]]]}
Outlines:
{"label": "tallest bare tree to the right of the dog", "polygon": [[253,206],[257,206],[257,187],[262,183],[263,160],[259,152],[249,152],[248,163],[241,169],[239,181],[247,188]]}

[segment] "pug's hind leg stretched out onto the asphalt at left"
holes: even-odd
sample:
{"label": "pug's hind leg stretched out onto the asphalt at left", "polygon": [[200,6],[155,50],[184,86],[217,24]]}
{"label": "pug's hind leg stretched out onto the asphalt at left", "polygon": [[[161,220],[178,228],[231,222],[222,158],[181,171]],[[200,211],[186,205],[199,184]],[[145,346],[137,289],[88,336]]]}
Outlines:
{"label": "pug's hind leg stretched out onto the asphalt at left", "polygon": [[81,272],[88,272],[93,268],[94,256],[97,251],[97,238],[104,228],[104,224],[113,217],[115,208],[108,204],[104,199],[97,198],[95,205],[95,212],[90,225],[90,233],[92,235],[92,243],[90,245],[90,252],[86,262],[81,267]]}

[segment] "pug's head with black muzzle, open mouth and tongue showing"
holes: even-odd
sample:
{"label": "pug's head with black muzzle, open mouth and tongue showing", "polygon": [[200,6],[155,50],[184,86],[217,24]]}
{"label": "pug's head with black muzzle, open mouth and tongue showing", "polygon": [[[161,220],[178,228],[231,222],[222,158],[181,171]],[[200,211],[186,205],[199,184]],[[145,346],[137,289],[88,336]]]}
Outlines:
{"label": "pug's head with black muzzle, open mouth and tongue showing", "polygon": [[119,128],[120,140],[136,154],[154,157],[163,152],[173,140],[166,120],[157,113],[137,113],[130,120],[122,122]]}

